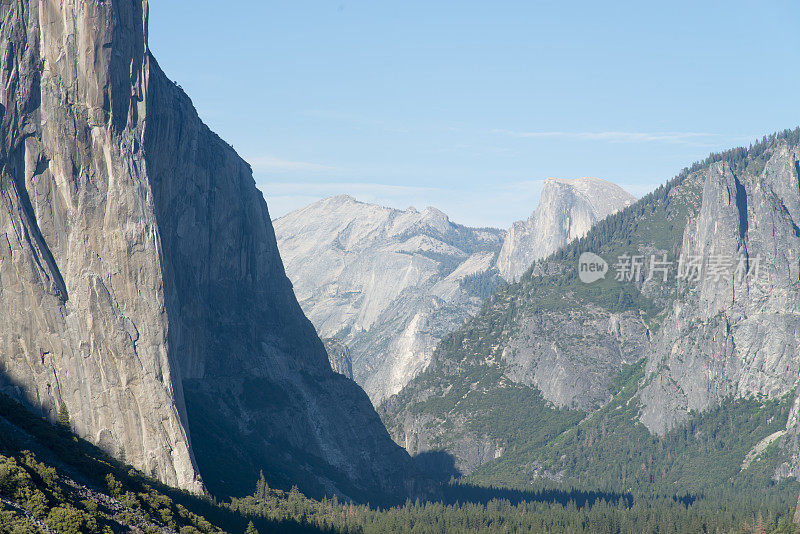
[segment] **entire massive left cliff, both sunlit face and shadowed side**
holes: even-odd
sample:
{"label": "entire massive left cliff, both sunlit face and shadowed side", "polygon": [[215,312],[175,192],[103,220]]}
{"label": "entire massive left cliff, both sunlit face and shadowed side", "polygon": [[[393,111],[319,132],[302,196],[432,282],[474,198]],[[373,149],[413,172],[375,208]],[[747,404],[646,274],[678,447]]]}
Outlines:
{"label": "entire massive left cliff, both sunlit face and shadowed side", "polygon": [[147,3],[0,15],[0,387],[192,491],[249,491],[259,468],[404,489],[410,459],[331,371],[249,166],[150,55]]}

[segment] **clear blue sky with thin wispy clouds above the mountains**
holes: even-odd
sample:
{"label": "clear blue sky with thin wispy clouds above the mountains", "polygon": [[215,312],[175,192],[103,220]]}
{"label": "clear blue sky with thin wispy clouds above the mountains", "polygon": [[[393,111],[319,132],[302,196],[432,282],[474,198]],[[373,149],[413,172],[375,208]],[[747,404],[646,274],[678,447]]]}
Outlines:
{"label": "clear blue sky with thin wispy clouds above the mountains", "polygon": [[[224,8],[221,6],[224,5]],[[793,0],[150,0],[150,47],[274,217],[347,193],[506,227],[800,124]]]}

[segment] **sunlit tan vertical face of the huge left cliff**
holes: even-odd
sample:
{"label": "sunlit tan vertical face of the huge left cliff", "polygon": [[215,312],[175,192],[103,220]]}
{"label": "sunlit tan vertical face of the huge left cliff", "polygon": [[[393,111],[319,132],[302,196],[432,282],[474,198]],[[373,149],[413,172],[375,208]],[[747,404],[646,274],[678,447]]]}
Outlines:
{"label": "sunlit tan vertical face of the huge left cliff", "polygon": [[141,2],[0,6],[0,373],[51,417],[199,491],[143,153]]}

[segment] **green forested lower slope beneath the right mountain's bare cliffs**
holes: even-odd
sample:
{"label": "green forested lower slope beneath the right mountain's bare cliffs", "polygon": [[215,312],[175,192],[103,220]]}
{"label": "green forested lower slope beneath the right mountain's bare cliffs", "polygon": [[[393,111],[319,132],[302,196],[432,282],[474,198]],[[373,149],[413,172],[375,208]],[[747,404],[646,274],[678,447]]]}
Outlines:
{"label": "green forested lower slope beneath the right mountain's bare cliffs", "polygon": [[783,461],[777,443],[742,468],[759,441],[785,428],[791,395],[780,400],[728,399],[656,436],[638,419],[635,394],[643,363],[630,366],[614,399],[580,424],[544,445],[509,451],[469,480],[525,487],[532,478],[520,467],[535,463],[575,487],[644,496],[713,494],[720,500],[747,496],[794,503],[800,484],[772,480]]}

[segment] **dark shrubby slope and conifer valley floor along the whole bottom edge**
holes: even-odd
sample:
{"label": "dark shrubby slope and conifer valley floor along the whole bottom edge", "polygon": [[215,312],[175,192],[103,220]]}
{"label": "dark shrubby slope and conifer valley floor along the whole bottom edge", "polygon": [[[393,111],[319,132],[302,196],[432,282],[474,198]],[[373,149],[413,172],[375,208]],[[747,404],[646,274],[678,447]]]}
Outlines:
{"label": "dark shrubby slope and conifer valley floor along the whole bottom edge", "polygon": [[270,488],[215,504],[167,488],[0,395],[0,532],[800,532],[774,494],[733,500],[638,498],[537,484],[527,491],[444,484],[435,501],[374,508]]}

